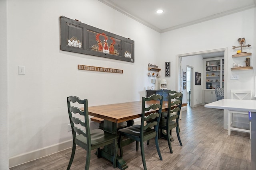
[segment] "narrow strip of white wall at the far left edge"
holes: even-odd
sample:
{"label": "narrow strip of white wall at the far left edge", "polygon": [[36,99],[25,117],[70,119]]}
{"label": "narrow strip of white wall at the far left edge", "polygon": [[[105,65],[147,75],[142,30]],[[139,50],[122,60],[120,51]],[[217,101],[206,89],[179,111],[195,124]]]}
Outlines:
{"label": "narrow strip of white wall at the far left edge", "polygon": [[9,167],[8,152],[8,61],[7,61],[7,27],[6,27],[6,0],[0,0],[0,169]]}

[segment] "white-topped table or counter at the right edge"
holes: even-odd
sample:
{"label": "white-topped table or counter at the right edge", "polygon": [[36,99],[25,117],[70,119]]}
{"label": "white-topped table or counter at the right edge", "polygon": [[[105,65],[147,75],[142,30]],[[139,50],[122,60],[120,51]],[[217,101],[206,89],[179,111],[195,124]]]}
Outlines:
{"label": "white-topped table or counter at the right edge", "polygon": [[256,100],[222,99],[206,104],[204,107],[234,111],[251,111],[251,169],[256,170]]}

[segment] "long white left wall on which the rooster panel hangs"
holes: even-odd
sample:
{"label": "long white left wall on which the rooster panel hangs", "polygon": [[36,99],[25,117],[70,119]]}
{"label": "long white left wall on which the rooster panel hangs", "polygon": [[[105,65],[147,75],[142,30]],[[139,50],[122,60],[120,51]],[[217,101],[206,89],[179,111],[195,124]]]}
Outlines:
{"label": "long white left wall on which the rooster panel hangs", "polygon": [[[146,95],[151,85],[148,63],[160,63],[160,33],[96,0],[7,4],[11,158],[72,139],[67,130],[67,96],[87,98],[89,106],[95,106],[141,100]],[[60,16],[131,38],[135,63],[61,51]],[[124,73],[78,70],[78,64]],[[26,75],[18,75],[18,65],[25,66]]]}

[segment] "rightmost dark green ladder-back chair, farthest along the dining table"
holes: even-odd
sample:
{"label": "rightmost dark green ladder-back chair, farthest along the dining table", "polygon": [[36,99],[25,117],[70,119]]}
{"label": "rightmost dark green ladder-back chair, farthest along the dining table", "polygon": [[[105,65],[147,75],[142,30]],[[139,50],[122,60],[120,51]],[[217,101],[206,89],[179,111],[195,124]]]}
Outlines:
{"label": "rightmost dark green ladder-back chair, farthest along the dining table", "polygon": [[[177,107],[173,107],[177,106]],[[162,117],[159,123],[159,137],[163,137],[168,141],[170,152],[172,152],[172,145],[170,141],[170,137],[172,135],[172,129],[176,128],[176,133],[178,140],[180,142],[180,146],[182,146],[180,140],[179,133],[179,119],[180,119],[180,111],[182,106],[182,93],[176,91],[170,91],[168,96],[168,111],[167,114]],[[171,108],[173,107],[173,108]],[[164,132],[166,131],[166,133]]]}

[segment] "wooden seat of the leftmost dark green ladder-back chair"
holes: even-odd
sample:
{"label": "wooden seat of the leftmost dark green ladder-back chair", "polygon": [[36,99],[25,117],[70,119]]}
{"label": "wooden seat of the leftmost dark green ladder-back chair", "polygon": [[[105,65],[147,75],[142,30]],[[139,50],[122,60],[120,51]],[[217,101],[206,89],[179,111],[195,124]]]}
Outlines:
{"label": "wooden seat of the leftmost dark green ladder-back chair", "polygon": [[[104,132],[101,129],[94,129],[90,131],[90,133],[91,133],[91,146],[100,145],[102,143],[106,143],[107,141],[110,141],[110,143],[112,143],[113,139],[117,138],[116,135]],[[77,135],[76,139],[82,143],[87,144],[86,137],[84,137],[84,135],[82,134]]]}

